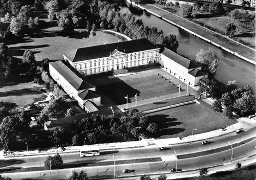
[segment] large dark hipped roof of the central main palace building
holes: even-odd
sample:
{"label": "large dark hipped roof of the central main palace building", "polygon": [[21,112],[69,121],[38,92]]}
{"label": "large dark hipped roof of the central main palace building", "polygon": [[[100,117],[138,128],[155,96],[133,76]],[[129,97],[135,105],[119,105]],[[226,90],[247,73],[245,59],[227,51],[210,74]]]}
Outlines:
{"label": "large dark hipped roof of the central main palace building", "polygon": [[158,49],[148,39],[136,39],[123,42],[116,42],[111,44],[103,44],[100,46],[93,46],[87,48],[79,48],[75,51],[65,55],[70,61],[78,62],[88,59],[97,59],[110,56],[110,53],[121,51],[125,53],[133,53],[138,51],[145,51],[150,49]]}

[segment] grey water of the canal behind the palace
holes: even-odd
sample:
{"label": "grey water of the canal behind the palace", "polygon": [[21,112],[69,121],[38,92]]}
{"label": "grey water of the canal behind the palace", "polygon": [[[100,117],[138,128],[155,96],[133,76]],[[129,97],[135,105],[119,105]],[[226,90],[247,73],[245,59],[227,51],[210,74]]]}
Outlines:
{"label": "grey water of the canal behind the palace", "polygon": [[191,60],[196,59],[196,54],[200,51],[200,49],[208,50],[208,48],[212,48],[220,59],[215,78],[225,84],[229,80],[236,80],[238,87],[244,87],[249,84],[255,93],[254,64],[240,59],[237,56],[231,55],[230,53],[217,48],[199,37],[189,34],[186,31],[179,29],[154,15],[144,12],[143,10],[136,9],[130,11],[126,4],[122,5],[120,8],[121,13],[132,11],[132,14],[143,20],[145,26],[156,26],[158,30],[162,30],[165,35],[170,32],[175,34],[177,36],[177,40],[179,41],[177,53]]}

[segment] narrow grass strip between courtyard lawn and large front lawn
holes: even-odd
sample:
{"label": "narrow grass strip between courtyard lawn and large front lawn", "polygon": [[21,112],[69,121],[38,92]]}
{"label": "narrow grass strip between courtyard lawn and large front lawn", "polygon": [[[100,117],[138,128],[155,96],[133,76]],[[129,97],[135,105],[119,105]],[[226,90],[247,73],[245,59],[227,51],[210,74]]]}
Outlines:
{"label": "narrow grass strip between courtyard lawn and large front lawn", "polygon": [[182,96],[180,98],[166,99],[164,101],[158,101],[158,102],[137,106],[137,109],[140,111],[152,110],[160,107],[166,107],[174,104],[195,100],[193,97],[194,96]]}

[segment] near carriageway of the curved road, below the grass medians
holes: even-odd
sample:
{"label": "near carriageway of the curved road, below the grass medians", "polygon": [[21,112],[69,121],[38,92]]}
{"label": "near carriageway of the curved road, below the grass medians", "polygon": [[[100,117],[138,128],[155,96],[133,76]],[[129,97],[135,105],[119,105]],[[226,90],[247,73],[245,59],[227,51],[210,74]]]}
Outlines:
{"label": "near carriageway of the curved road, below the grass medians", "polygon": [[[237,160],[256,153],[255,146],[256,140],[250,143],[243,144],[237,148],[233,148],[233,162],[234,165],[239,162]],[[162,152],[161,152],[162,153]],[[178,169],[182,169],[178,173],[186,173],[188,170],[197,170],[201,167],[219,166],[222,168],[223,163],[230,162],[231,159],[231,149],[220,153],[214,153],[210,155],[200,156],[197,158],[190,158],[184,160],[178,160]],[[242,163],[242,162],[241,162]],[[126,165],[116,165],[116,166],[100,166],[100,167],[86,167],[78,168],[80,170],[86,170],[88,175],[92,178],[113,178],[115,167],[115,176],[131,176],[136,174],[146,174],[146,173],[167,173],[170,168],[176,167],[176,160],[168,160],[163,162],[155,163],[139,163],[139,164],[126,164]],[[135,170],[132,173],[123,174],[123,169]],[[2,174],[4,177],[10,177],[12,179],[64,179],[65,176],[70,172],[71,169],[61,169],[50,171],[36,171],[36,172],[24,172],[24,173],[6,173]],[[168,174],[170,175],[170,174]]]}

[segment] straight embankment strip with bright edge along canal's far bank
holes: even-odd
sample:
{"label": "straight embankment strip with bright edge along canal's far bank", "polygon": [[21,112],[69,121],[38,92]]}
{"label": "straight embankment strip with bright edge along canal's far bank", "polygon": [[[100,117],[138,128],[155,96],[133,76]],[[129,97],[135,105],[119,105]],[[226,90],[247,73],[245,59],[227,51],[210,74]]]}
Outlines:
{"label": "straight embankment strip with bright edge along canal's far bank", "polygon": [[[129,4],[131,4],[130,0],[126,1]],[[150,12],[151,14],[169,22],[170,24],[176,27],[179,27],[191,34],[194,34],[233,55],[236,55],[250,63],[255,64],[255,51],[253,51],[250,48],[242,46],[236,42],[230,41],[229,39],[220,38],[219,35],[215,32],[210,32],[206,29],[203,29],[200,26],[188,21],[187,19],[175,16],[172,13],[167,12],[156,6],[148,5],[152,6],[152,8],[150,9],[143,7],[143,5],[133,4],[133,6],[136,6],[142,10],[146,10],[147,12]]]}

